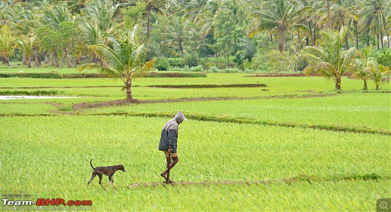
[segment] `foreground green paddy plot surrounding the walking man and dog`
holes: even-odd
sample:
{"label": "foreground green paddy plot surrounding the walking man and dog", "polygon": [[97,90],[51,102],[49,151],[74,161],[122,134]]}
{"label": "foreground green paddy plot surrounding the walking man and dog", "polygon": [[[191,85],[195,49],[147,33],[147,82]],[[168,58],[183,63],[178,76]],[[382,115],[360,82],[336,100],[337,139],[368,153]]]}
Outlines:
{"label": "foreground green paddy plot surrounding the walking man and dog", "polygon": [[[325,181],[128,190],[126,186],[134,182],[162,181],[159,173],[165,163],[157,145],[166,118],[0,120],[1,191],[29,193],[32,199],[87,199],[94,211],[369,211],[378,198],[390,196],[390,136],[385,135],[188,120],[180,125],[180,160],[172,170],[177,181],[281,180],[303,175]],[[124,123],[132,133],[123,130]],[[124,164],[128,171],[114,177],[117,190],[109,187],[106,193],[98,179],[87,188],[91,158],[94,166]],[[386,178],[327,180],[371,173]],[[103,183],[107,182],[105,177]],[[167,193],[176,198],[170,207]]]}

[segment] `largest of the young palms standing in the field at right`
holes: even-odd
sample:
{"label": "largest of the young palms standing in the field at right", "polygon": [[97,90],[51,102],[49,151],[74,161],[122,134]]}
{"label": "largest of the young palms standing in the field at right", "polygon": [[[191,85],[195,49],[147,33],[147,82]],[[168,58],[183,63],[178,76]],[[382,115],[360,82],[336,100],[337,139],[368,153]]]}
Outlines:
{"label": "largest of the young palms standing in the field at right", "polygon": [[344,49],[344,39],[348,28],[342,27],[339,32],[322,31],[322,41],[319,46],[307,46],[302,56],[309,61],[304,71],[317,73],[335,82],[335,89],[341,89],[341,77],[345,72],[356,68],[357,49]]}

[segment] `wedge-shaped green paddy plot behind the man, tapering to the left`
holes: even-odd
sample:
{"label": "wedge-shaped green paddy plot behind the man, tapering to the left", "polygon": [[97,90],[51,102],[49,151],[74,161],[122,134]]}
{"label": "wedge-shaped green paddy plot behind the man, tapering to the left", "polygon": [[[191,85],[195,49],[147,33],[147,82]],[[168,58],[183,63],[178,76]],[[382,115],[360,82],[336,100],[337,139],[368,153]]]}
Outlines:
{"label": "wedge-shaped green paddy plot behind the man, tapering to the left", "polygon": [[328,97],[155,103],[85,109],[85,113],[173,112],[229,114],[276,123],[391,129],[390,94],[346,93]]}

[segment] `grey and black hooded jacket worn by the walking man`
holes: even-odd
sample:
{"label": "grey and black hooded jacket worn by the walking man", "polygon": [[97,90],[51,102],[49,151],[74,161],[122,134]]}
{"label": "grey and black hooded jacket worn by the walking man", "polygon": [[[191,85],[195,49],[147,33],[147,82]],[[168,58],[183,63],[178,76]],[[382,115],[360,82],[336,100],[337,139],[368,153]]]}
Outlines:
{"label": "grey and black hooded jacket worn by the walking man", "polygon": [[164,125],[160,137],[159,150],[168,151],[169,146],[173,148],[172,153],[176,153],[176,142],[178,140],[178,124],[186,120],[185,115],[182,111],[179,111],[174,119],[168,121]]}

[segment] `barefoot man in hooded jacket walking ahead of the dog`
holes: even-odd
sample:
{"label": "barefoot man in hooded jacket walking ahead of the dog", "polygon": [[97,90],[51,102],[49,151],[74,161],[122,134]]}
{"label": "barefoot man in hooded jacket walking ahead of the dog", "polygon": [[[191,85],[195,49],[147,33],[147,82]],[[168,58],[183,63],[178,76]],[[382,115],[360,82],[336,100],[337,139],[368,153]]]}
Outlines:
{"label": "barefoot man in hooded jacket walking ahead of the dog", "polygon": [[[180,125],[180,123],[183,121],[186,121],[186,117],[183,115],[182,111],[179,111],[175,115],[174,119],[168,121],[166,125],[164,125],[160,137],[159,150],[164,152],[168,167],[160,175],[164,177],[168,183],[175,182],[174,180],[171,180],[169,176],[167,176],[167,172],[171,170],[179,161],[178,153],[176,152],[176,142],[178,140],[178,125]],[[171,148],[169,149],[169,147]],[[169,154],[171,157],[169,157]],[[171,159],[173,159],[172,162]]]}

